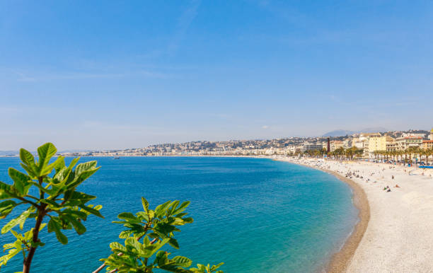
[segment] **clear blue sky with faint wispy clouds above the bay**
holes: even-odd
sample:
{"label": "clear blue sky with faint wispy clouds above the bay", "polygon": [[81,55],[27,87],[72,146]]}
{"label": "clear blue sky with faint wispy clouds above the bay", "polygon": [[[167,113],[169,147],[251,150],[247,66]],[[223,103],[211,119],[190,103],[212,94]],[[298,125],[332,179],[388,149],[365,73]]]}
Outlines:
{"label": "clear blue sky with faint wispy clouds above the bay", "polygon": [[0,1],[0,150],[431,129],[432,1]]}

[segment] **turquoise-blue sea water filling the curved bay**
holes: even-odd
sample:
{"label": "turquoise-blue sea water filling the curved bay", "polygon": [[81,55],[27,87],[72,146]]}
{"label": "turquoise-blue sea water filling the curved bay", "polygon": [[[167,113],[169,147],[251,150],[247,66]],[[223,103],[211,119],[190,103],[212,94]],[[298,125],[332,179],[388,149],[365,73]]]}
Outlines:
{"label": "turquoise-blue sea water filling the curved bay", "polygon": [[[70,160],[70,159],[69,159]],[[318,170],[262,158],[82,158],[102,168],[79,190],[98,196],[105,219],[91,217],[82,236],[68,231],[68,245],[42,233],[32,272],[91,272],[109,255],[122,211],[168,199],[190,200],[194,223],[181,227],[178,254],[193,264],[225,262],[224,272],[318,272],[357,221],[350,187]],[[0,180],[18,158],[0,158]],[[10,217],[8,217],[9,219]],[[4,226],[6,220],[1,220]],[[9,236],[2,235],[3,245]],[[173,249],[167,248],[169,252]],[[1,272],[22,269],[17,255]]]}

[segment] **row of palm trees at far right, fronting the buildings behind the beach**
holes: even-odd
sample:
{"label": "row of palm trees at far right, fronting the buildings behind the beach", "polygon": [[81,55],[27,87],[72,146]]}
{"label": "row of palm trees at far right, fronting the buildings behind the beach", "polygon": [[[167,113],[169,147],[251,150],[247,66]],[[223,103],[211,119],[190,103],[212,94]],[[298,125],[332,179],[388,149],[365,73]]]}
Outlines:
{"label": "row of palm trees at far right, fronting the buildings behind the beach", "polygon": [[412,158],[417,158],[417,161],[422,161],[425,158],[425,163],[429,163],[429,157],[433,157],[432,149],[420,149],[418,147],[410,147],[403,151],[374,151],[374,156],[378,159],[390,158],[394,161],[412,162]]}

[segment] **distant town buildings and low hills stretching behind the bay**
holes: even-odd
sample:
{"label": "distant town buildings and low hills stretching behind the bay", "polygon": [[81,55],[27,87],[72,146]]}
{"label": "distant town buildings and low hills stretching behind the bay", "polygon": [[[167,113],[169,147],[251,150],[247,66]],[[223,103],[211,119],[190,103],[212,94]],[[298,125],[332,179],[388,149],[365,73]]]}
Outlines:
{"label": "distant town buildings and low hills stretching behind the bay", "polygon": [[156,144],[145,148],[62,153],[64,156],[294,156],[301,153],[334,153],[352,149],[362,158],[380,151],[433,149],[433,129],[357,133],[347,136],[288,137],[272,140],[190,141]]}

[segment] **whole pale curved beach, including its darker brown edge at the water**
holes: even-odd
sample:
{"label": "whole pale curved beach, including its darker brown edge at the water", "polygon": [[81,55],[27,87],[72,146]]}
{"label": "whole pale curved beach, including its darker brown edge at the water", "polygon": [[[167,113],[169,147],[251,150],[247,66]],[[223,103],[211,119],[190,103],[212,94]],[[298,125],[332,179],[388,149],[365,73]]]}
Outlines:
{"label": "whole pale curved beach, including its darker brown edge at the water", "polygon": [[[331,260],[328,272],[433,272],[433,170],[311,158],[275,159],[332,171],[354,189],[361,221]],[[359,178],[345,177],[354,172]],[[391,192],[383,190],[387,186]]]}

